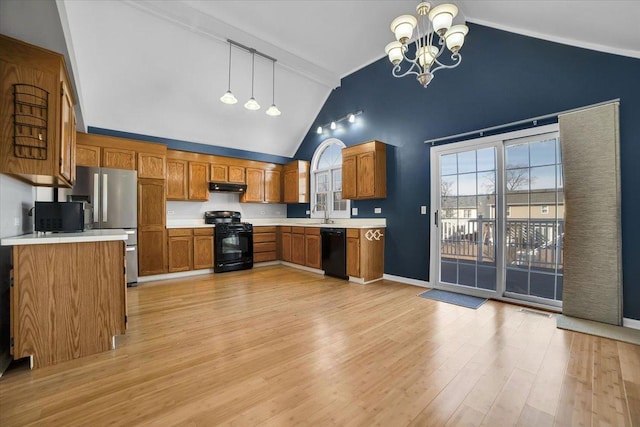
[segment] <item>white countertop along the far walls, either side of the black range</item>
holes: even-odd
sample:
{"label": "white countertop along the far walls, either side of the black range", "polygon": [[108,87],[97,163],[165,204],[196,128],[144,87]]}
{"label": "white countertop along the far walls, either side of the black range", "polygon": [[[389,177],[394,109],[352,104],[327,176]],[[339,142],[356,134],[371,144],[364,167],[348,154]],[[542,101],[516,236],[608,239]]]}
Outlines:
{"label": "white countertop along the far walls, either side of the black range", "polygon": [[[294,227],[330,227],[330,228],[385,228],[385,218],[351,218],[336,219],[331,224],[323,224],[321,218],[242,218],[242,222],[254,227],[294,226]],[[167,220],[167,228],[207,228],[213,224],[205,224],[204,219]]]}

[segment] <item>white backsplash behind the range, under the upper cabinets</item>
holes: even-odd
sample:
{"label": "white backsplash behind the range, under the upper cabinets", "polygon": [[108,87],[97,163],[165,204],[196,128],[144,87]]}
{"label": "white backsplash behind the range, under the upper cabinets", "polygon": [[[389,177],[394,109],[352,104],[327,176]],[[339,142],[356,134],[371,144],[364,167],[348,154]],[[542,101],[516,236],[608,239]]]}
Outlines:
{"label": "white backsplash behind the range, under the upper cabinets", "polygon": [[242,218],[286,218],[287,205],[240,203],[237,193],[210,193],[208,202],[167,201],[167,220],[202,219],[206,211],[238,211]]}

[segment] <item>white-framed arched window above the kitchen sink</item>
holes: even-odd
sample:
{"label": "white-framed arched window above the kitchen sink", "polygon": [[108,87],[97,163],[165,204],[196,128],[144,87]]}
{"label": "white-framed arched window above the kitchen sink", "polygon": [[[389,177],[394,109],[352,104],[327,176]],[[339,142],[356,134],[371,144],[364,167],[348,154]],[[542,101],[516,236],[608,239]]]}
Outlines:
{"label": "white-framed arched window above the kitchen sink", "polygon": [[311,218],[349,218],[351,202],[342,198],[344,143],[329,138],[311,160]]}

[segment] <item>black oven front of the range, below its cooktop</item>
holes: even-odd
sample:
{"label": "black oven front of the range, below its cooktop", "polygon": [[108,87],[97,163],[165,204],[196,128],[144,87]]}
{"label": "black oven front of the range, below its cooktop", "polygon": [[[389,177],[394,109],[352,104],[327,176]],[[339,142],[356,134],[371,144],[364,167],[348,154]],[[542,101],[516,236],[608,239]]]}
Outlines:
{"label": "black oven front of the range, below its cooktop", "polygon": [[253,268],[252,231],[216,230],[214,245],[214,272]]}

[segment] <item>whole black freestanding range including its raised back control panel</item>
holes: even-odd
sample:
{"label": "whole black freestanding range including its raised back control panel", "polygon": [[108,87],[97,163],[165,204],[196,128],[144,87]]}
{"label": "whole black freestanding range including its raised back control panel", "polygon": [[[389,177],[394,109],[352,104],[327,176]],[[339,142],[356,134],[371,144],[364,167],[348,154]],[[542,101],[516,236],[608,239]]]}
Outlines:
{"label": "whole black freestanding range including its raised back control panel", "polygon": [[213,271],[246,270],[253,268],[253,225],[240,222],[241,214],[235,211],[208,211],[204,222],[214,224]]}

